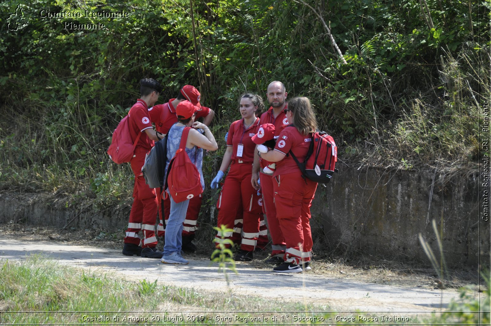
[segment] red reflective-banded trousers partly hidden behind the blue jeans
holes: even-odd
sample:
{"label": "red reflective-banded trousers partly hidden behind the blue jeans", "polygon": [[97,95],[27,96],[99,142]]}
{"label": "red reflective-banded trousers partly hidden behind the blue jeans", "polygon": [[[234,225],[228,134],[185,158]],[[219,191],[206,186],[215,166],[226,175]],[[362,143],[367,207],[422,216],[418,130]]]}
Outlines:
{"label": "red reflective-banded trousers partly hidden behind the blue jeans", "polygon": [[[157,192],[158,198],[161,198],[160,188],[155,189]],[[165,228],[164,228],[164,220],[165,224],[167,224],[167,220],[169,219],[170,214],[170,198],[167,196],[164,202],[164,213],[162,212],[161,200],[159,199],[159,217],[160,223],[157,227],[157,235],[159,237],[165,237]],[[199,210],[201,209],[201,195],[192,197],[189,201],[188,211],[186,213],[186,219],[183,222],[183,237],[194,237],[194,233],[198,229],[198,217]],[[164,214],[164,215],[163,215]],[[164,216],[164,220],[162,217]]]}

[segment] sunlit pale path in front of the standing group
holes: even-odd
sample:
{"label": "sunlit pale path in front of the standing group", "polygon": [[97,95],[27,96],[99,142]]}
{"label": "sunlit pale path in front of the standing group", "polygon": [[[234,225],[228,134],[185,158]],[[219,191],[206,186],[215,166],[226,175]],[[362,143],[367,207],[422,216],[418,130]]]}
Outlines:
{"label": "sunlit pale path in front of the standing group", "polygon": [[231,290],[238,295],[261,296],[289,301],[314,302],[331,311],[372,311],[391,314],[425,314],[440,311],[456,289],[424,286],[375,284],[356,278],[333,277],[315,269],[300,274],[276,274],[270,266],[238,263],[238,274],[228,273],[229,285],[218,264],[204,257],[187,257],[189,265],[165,265],[158,259],[126,257],[120,249],[75,245],[56,241],[19,239],[6,236],[0,240],[0,260],[24,260],[33,253],[52,257],[60,264],[90,270],[112,272],[128,280],[158,280],[166,285],[194,288],[197,291]]}

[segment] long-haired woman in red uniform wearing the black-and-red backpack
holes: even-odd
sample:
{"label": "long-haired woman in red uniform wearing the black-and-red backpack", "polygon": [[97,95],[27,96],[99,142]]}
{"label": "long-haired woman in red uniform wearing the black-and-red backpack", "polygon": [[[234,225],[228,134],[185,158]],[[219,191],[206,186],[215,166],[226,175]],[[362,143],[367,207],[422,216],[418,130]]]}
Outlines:
{"label": "long-haired woman in red uniform wearing the black-and-red backpack", "polygon": [[270,162],[276,162],[273,173],[274,205],[286,242],[284,263],[273,268],[273,272],[298,273],[302,272],[301,265],[307,269],[310,262],[310,206],[317,183],[303,178],[297,163],[287,154],[291,150],[300,162],[305,160],[310,135],[316,131],[317,122],[306,97],[289,101],[285,113],[290,127],[281,131],[273,150],[260,155]]}

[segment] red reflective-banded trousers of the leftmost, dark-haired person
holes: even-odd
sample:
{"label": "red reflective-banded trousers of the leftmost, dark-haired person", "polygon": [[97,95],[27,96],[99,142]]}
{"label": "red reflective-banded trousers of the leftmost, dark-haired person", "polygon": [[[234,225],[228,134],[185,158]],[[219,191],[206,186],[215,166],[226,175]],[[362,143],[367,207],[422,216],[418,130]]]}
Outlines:
{"label": "red reflective-banded trousers of the leftmost, dark-haired person", "polygon": [[157,196],[155,190],[148,187],[141,172],[145,163],[147,151],[141,147],[136,148],[135,156],[130,161],[131,169],[135,174],[135,186],[133,187],[133,205],[131,206],[130,221],[124,238],[125,244],[140,245],[139,231],[143,231],[141,246],[155,247],[155,221],[157,217]]}

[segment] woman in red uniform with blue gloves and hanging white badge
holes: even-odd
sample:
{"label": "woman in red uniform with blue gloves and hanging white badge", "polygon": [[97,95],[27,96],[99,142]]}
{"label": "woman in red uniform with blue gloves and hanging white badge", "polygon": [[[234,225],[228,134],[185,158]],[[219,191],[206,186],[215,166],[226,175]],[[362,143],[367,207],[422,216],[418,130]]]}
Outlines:
{"label": "woman in red uniform with blue gloves and hanging white badge", "polygon": [[[261,197],[250,184],[251,165],[254,161],[255,144],[251,137],[259,127],[256,112],[264,108],[259,95],[246,93],[241,96],[239,111],[242,119],[234,121],[229,128],[227,149],[223,155],[220,169],[211,183],[211,188],[218,188],[218,183],[230,166],[227,177],[218,198],[218,226],[234,228],[238,209],[242,209],[242,239],[240,249],[235,255],[236,261],[251,261],[259,236],[259,218],[262,215]],[[217,234],[215,242],[223,243],[232,239],[233,232]]]}

